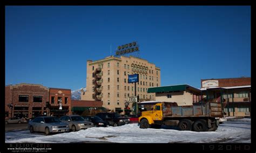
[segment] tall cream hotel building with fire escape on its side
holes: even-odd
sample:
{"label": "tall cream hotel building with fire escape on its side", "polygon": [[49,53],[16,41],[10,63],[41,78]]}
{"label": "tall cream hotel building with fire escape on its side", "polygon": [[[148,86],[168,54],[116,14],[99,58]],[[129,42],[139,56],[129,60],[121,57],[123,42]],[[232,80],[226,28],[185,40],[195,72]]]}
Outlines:
{"label": "tall cream hotel building with fire escape on its side", "polygon": [[[139,74],[136,89],[128,83],[129,74]],[[82,100],[103,101],[103,107],[124,114],[128,96],[139,95],[139,101],[155,100],[155,93],[147,88],[160,86],[160,68],[137,57],[106,57],[102,60],[87,60],[86,91]],[[132,103],[129,104],[132,108]]]}

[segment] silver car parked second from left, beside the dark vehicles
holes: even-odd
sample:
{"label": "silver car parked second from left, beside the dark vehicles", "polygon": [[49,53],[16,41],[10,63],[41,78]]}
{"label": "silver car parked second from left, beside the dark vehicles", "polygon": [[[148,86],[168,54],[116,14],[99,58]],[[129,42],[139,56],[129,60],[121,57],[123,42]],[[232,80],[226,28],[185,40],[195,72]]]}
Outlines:
{"label": "silver car parked second from left, beside the dark vehicles", "polygon": [[60,121],[69,124],[69,127],[72,131],[78,131],[81,129],[87,129],[94,127],[93,123],[90,121],[85,121],[82,116],[79,115],[67,115],[62,116],[59,119]]}

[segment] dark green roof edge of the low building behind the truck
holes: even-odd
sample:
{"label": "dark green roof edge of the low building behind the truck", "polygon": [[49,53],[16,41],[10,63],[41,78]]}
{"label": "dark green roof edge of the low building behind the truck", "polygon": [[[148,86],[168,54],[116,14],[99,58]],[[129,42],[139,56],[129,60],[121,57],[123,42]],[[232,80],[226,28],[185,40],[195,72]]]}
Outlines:
{"label": "dark green roof edge of the low building behind the truck", "polygon": [[196,92],[201,92],[200,89],[189,86],[189,85],[175,85],[175,86],[164,86],[164,87],[152,87],[147,89],[147,93],[169,93],[185,91],[187,88],[192,89]]}

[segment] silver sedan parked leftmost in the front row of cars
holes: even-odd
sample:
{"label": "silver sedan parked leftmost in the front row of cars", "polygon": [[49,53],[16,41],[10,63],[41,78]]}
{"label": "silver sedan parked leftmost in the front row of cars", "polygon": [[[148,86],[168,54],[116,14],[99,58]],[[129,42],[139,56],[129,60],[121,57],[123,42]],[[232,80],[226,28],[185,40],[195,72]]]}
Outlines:
{"label": "silver sedan parked leftmost in the front row of cars", "polygon": [[57,117],[41,116],[29,121],[28,129],[30,133],[34,131],[50,133],[63,133],[69,131],[69,125],[61,122]]}

